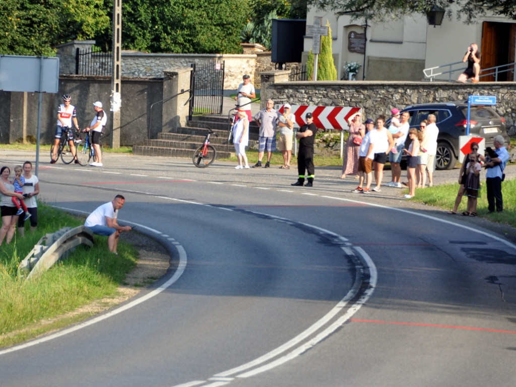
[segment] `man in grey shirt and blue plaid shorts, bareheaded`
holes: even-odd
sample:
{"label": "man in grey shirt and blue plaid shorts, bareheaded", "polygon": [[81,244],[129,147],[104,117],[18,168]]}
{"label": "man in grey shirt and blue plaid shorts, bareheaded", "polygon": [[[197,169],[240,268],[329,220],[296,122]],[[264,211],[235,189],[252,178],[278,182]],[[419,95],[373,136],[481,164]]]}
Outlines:
{"label": "man in grey shirt and blue plaid shorts, bareheaded", "polygon": [[265,163],[265,168],[269,168],[272,152],[276,150],[278,112],[274,108],[274,101],[268,100],[267,107],[256,113],[254,121],[260,125],[260,144],[258,147],[258,162],[253,165],[253,168],[262,168],[262,158],[265,151],[267,151],[267,163]]}

